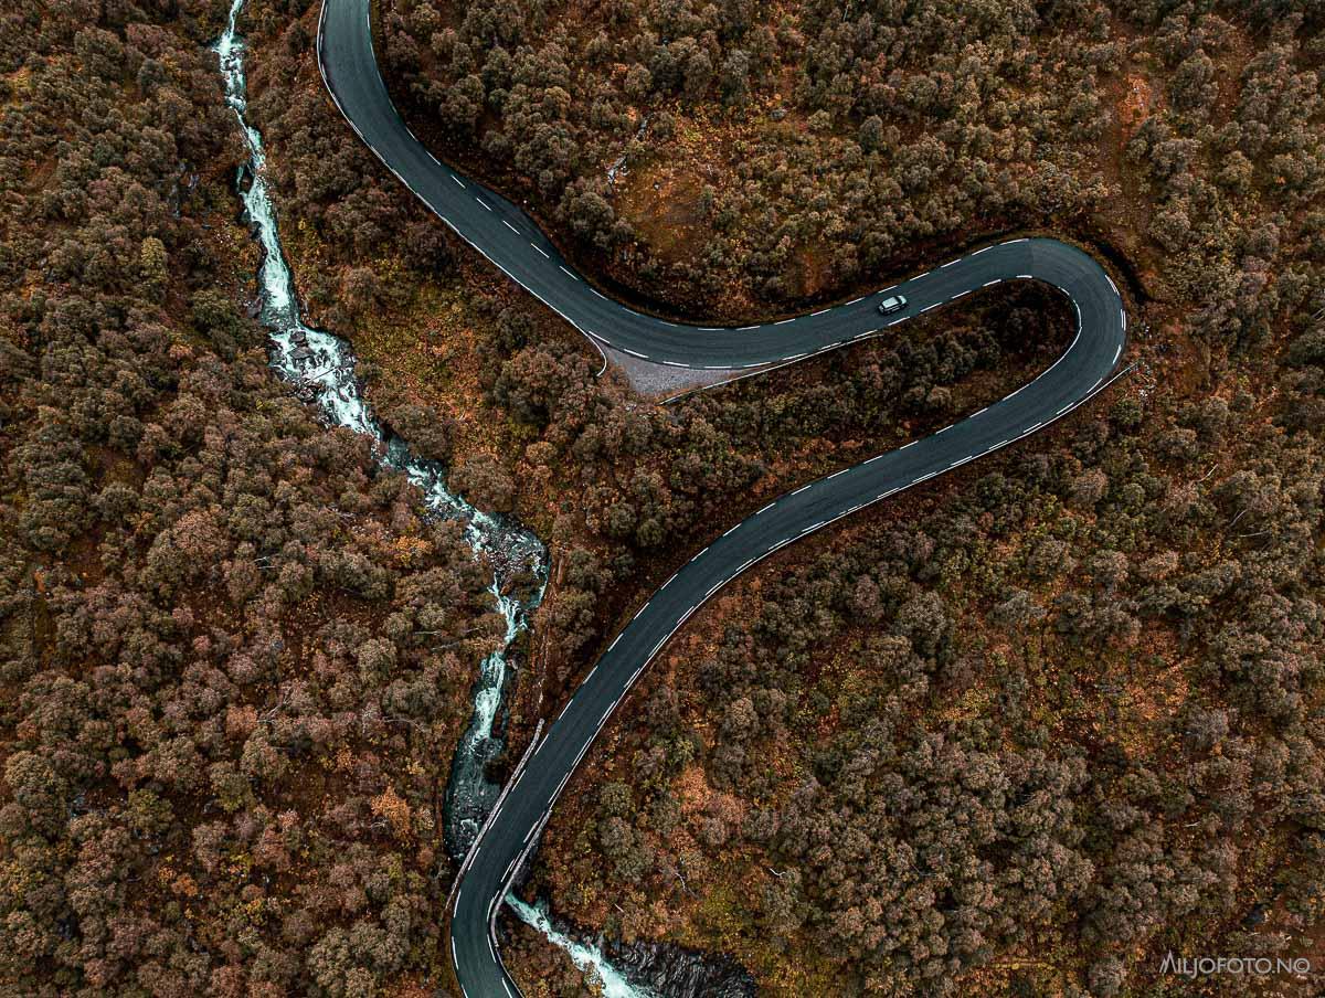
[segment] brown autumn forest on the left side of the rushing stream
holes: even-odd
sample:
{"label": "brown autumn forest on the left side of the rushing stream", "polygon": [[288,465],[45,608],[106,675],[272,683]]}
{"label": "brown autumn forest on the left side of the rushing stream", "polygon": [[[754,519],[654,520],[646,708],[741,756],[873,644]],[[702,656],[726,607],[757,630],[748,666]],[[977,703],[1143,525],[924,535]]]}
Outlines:
{"label": "brown autumn forest on the left side of the rushing stream", "polygon": [[501,635],[453,525],[268,367],[223,4],[0,15],[0,993],[441,965]]}

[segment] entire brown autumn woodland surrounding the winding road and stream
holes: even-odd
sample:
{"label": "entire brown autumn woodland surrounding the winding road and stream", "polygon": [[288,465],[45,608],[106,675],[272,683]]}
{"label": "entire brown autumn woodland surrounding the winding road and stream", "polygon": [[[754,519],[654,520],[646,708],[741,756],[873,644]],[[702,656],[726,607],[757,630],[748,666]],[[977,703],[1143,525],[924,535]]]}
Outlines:
{"label": "entire brown autumn woodland surrounding the winding road and stream", "polygon": [[[500,620],[456,533],[265,367],[223,15],[0,15],[12,994],[445,985],[439,793]],[[378,411],[550,546],[515,745],[713,537],[1071,337],[1052,292],[991,289],[651,404],[354,139],[317,15],[244,17],[288,253]],[[1108,395],[692,619],[529,895],[774,995],[1318,994],[1318,9],[380,0],[375,25],[437,155],[641,307],[792,314],[1044,232],[1110,261],[1133,317]],[[526,994],[584,993],[509,932]],[[1169,950],[1317,975],[1179,979]]]}

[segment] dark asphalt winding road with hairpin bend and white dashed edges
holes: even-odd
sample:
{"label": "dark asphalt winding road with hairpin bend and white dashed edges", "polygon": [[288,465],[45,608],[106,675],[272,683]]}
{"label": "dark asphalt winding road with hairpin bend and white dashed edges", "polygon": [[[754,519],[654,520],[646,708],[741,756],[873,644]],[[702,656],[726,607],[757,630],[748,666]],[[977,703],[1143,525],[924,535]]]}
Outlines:
{"label": "dark asphalt winding road with hairpin bend and white dashed edges", "polygon": [[527,757],[460,875],[450,929],[456,974],[466,998],[500,998],[518,993],[492,928],[506,885],[590,744],[668,638],[762,558],[863,506],[1007,447],[1092,398],[1118,366],[1128,318],[1100,264],[1048,239],[986,247],[912,277],[896,285],[909,300],[908,309],[886,319],[876,307],[882,292],[742,329],[685,326],[635,311],[582,280],[518,207],[440,163],[411,134],[383,83],[368,17],[368,0],[323,0],[318,64],[350,126],[461,239],[600,343],[681,367],[761,367],[874,335],[980,288],[1016,280],[1059,288],[1077,314],[1072,345],[1032,382],[931,436],[770,502],[694,555],[616,636]]}

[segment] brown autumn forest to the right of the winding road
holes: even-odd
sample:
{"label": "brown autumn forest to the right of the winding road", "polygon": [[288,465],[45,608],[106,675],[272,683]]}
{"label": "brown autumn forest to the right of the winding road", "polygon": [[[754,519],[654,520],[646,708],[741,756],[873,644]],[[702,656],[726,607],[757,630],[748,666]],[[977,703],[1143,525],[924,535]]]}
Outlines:
{"label": "brown autumn forest to the right of the winding road", "polygon": [[[780,314],[1031,229],[1117,261],[1143,319],[1112,403],[692,623],[572,783],[534,889],[786,994],[1140,994],[1169,949],[1314,953],[1318,12],[380,12],[416,131],[628,298]],[[935,394],[901,370],[896,398]],[[762,392],[759,417],[708,420],[731,427],[717,453],[758,452],[779,388],[694,403]],[[831,376],[800,391],[864,448],[905,420]],[[555,414],[534,425],[555,445]],[[559,453],[641,512],[619,451]],[[586,513],[608,562],[612,521]],[[553,606],[571,588],[594,590]]]}

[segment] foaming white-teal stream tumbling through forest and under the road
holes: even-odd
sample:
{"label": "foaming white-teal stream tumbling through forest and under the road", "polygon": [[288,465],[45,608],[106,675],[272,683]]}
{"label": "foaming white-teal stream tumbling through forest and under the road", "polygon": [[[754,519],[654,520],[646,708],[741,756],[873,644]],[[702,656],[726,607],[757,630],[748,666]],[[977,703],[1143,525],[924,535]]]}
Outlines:
{"label": "foaming white-teal stream tumbling through forest and under the road", "polygon": [[[546,553],[542,542],[518,524],[489,516],[450,492],[441,465],[415,457],[404,440],[378,421],[355,378],[354,354],[348,343],[303,323],[290,268],[281,249],[276,208],[266,182],[262,135],[248,121],[245,49],[237,27],[242,7],[244,0],[233,1],[225,32],[215,48],[225,80],[225,101],[235,111],[249,150],[249,162],[240,176],[240,196],[248,221],[262,245],[258,270],[260,315],[270,341],[272,367],[295,387],[302,399],[321,408],[329,423],[348,427],[376,440],[382,464],[404,472],[417,484],[428,509],[436,516],[464,522],[465,539],[474,557],[485,558],[493,567],[490,590],[506,620],[506,634],[501,645],[480,665],[474,684],[474,710],[456,750],[443,815],[447,851],[458,860],[473,844],[501,791],[488,778],[488,763],[505,748],[494,726],[507,684],[510,657],[529,632],[529,614],[538,606],[547,583]],[[657,994],[651,987],[632,986],[607,961],[602,946],[582,942],[559,930],[542,908],[523,904],[514,896],[507,896],[506,901],[522,921],[564,949],[576,966],[592,970],[603,982],[608,998],[651,998]],[[694,962],[702,966],[705,961],[696,956]],[[647,979],[648,974],[641,978]],[[706,991],[684,987],[665,993],[681,995]]]}

